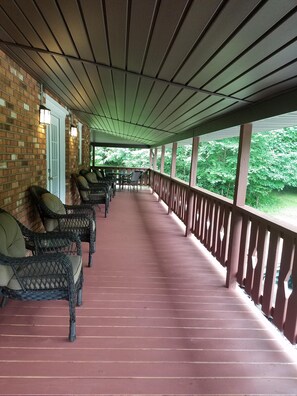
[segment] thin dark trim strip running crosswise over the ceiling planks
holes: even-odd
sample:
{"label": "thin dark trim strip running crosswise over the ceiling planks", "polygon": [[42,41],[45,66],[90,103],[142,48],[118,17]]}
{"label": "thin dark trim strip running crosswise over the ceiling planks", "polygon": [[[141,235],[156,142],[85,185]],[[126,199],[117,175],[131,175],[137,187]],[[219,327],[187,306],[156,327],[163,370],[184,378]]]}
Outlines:
{"label": "thin dark trim strip running crosswise over the ceiling planks", "polygon": [[38,53],[47,54],[47,55],[51,55],[51,56],[62,57],[62,58],[65,58],[65,59],[76,61],[76,62],[82,62],[82,63],[91,64],[91,65],[97,66],[97,67],[99,67],[101,69],[107,69],[107,70],[110,70],[110,71],[117,71],[117,72],[120,72],[120,73],[125,73],[126,75],[130,75],[130,76],[134,76],[134,77],[138,77],[138,78],[144,78],[146,80],[150,80],[150,81],[154,81],[154,82],[170,85],[170,86],[175,87],[175,88],[186,89],[186,90],[190,90],[190,91],[193,91],[193,92],[200,92],[200,93],[203,93],[205,95],[217,96],[219,98],[229,99],[229,100],[232,100],[232,101],[235,101],[235,102],[252,103],[251,101],[248,101],[248,100],[245,100],[245,99],[241,99],[241,98],[237,98],[235,96],[224,95],[224,94],[220,94],[218,92],[208,91],[207,89],[203,89],[203,88],[196,88],[196,87],[193,87],[193,86],[190,86],[190,85],[185,85],[185,84],[181,84],[181,83],[178,83],[178,82],[168,81],[168,80],[165,80],[163,78],[152,77],[152,76],[148,76],[146,74],[141,74],[141,73],[133,72],[133,71],[130,71],[130,70],[121,69],[119,67],[105,65],[104,63],[95,62],[95,61],[92,61],[92,60],[89,60],[89,59],[83,59],[83,58],[78,58],[78,57],[75,57],[75,56],[61,54],[59,52],[48,51],[48,50],[43,49],[43,48],[30,47],[30,46],[27,46],[27,45],[18,44],[18,43],[12,43],[10,41],[4,41],[4,40],[0,40],[0,47],[1,46],[17,47],[17,48],[23,49],[24,51],[33,51],[33,52],[38,52]]}

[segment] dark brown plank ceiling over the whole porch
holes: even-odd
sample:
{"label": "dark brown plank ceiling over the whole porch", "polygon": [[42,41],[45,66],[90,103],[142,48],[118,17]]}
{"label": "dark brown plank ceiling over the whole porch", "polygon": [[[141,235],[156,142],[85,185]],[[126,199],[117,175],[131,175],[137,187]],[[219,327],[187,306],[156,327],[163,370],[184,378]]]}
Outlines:
{"label": "dark brown plank ceiling over the whole porch", "polygon": [[149,146],[297,110],[296,26],[296,0],[0,2],[0,48],[94,141]]}

